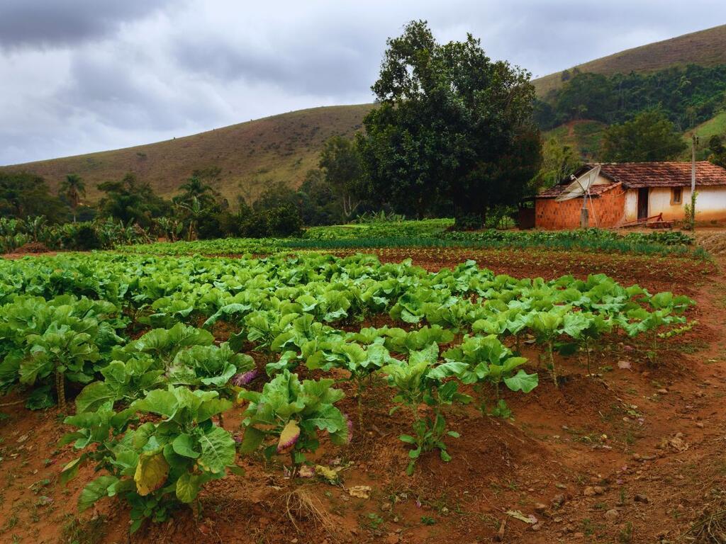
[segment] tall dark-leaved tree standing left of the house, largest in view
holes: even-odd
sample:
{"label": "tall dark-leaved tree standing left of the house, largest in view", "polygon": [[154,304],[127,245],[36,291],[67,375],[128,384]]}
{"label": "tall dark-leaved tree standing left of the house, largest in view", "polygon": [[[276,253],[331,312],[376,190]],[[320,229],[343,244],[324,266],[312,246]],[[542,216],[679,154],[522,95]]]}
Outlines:
{"label": "tall dark-leaved tree standing left of the house, largest in view", "polygon": [[359,136],[373,193],[417,216],[446,200],[457,220],[517,202],[540,161],[529,73],[492,62],[470,34],[439,44],[425,21],[387,43],[380,106]]}

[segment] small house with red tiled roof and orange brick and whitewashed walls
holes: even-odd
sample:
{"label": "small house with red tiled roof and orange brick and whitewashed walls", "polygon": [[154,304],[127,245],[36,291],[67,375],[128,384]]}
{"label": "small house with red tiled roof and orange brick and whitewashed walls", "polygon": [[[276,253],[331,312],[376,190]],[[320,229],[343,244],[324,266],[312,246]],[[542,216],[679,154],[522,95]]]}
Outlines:
{"label": "small house with red tiled roof and orange brick and whitewashed walls", "polygon": [[[574,172],[582,176],[596,165]],[[622,162],[600,165],[590,186],[590,226],[616,227],[663,214],[664,221],[682,221],[690,203],[690,162]],[[558,201],[570,178],[539,193],[534,201],[537,228],[579,228],[582,198]],[[726,170],[696,162],[696,221],[726,221]]]}

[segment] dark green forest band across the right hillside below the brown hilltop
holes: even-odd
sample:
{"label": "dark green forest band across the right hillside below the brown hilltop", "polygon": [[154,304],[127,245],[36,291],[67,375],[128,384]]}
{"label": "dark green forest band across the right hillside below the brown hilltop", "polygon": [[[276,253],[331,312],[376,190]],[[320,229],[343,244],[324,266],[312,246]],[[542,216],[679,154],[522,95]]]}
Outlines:
{"label": "dark green forest band across the right hillside below the brown hilltop", "polygon": [[726,106],[726,65],[611,76],[566,70],[562,77],[562,88],[535,101],[534,120],[542,130],[579,119],[623,123],[658,109],[685,131]]}

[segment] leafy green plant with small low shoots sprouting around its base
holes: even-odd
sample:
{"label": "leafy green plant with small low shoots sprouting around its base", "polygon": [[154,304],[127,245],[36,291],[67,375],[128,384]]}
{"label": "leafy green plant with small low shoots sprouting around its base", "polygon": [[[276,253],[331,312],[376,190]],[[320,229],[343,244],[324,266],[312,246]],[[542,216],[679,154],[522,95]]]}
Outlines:
{"label": "leafy green plant with small low shoots sprouting around its base", "polygon": [[[401,434],[399,440],[414,446],[409,450],[409,463],[406,469],[409,476],[415,470],[416,462],[422,453],[439,450],[441,461],[451,461],[446,451],[444,437],[458,438],[454,431],[446,431],[446,420],[441,408],[454,402],[469,403],[471,397],[458,392],[456,380],[445,381],[465,370],[465,363],[446,362],[437,365],[439,346],[431,344],[420,351],[412,351],[406,360],[396,360],[381,368],[387,375],[388,386],[396,391],[393,402],[398,408],[404,407],[412,415],[414,434]],[[425,404],[429,413],[420,415],[420,405]]]}

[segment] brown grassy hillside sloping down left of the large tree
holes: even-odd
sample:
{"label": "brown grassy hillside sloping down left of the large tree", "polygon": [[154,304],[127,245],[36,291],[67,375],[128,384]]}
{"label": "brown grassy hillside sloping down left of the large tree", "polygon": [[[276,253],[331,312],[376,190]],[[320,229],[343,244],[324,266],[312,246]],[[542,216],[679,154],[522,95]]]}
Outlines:
{"label": "brown grassy hillside sloping down left of the large tree", "polygon": [[66,174],[77,173],[94,201],[99,197],[97,184],[121,179],[129,171],[171,196],[192,170],[218,166],[221,181],[216,189],[221,194],[254,199],[271,180],[299,184],[306,171],[317,166],[322,143],[335,134],[351,136],[371,107],[317,107],[155,144],[3,168],[38,173],[52,189]]}

